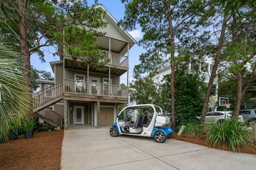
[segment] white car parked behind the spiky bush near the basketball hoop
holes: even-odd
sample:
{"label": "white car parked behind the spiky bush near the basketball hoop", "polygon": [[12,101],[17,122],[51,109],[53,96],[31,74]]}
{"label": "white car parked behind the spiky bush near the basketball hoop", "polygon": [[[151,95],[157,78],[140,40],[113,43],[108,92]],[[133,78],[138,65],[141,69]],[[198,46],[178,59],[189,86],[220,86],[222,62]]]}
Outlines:
{"label": "white car parked behind the spiky bush near the basketball hoop", "polygon": [[[232,116],[232,111],[210,111],[206,113],[205,122],[221,122]],[[241,115],[238,116],[238,121],[244,121]]]}

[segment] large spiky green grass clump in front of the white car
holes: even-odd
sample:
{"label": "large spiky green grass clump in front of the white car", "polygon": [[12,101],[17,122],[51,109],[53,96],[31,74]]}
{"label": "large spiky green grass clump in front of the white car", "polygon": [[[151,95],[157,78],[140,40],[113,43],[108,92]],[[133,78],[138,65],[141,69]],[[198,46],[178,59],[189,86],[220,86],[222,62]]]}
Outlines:
{"label": "large spiky green grass clump in front of the white car", "polygon": [[218,123],[205,123],[204,127],[206,127],[204,129],[206,132],[206,142],[210,143],[210,146],[217,145],[219,149],[221,145],[229,149],[232,147],[233,152],[237,152],[236,147],[239,149],[240,146],[254,146],[254,133],[248,130],[248,127],[235,117],[224,119],[222,122]]}

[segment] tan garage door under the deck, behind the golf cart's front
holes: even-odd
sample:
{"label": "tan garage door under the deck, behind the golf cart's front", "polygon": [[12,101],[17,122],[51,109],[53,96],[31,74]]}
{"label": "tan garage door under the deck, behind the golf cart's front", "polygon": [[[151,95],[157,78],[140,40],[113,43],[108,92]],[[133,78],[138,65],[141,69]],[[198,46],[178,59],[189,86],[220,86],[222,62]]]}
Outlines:
{"label": "tan garage door under the deck, behind the golf cart's front", "polygon": [[100,126],[109,126],[114,124],[114,108],[100,107]]}

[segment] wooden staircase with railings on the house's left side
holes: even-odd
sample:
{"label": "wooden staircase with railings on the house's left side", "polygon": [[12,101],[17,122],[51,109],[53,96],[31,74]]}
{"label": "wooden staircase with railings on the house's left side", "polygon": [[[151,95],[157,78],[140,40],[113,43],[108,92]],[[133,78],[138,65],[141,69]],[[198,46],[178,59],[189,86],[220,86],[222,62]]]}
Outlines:
{"label": "wooden staircase with railings on the house's left side", "polygon": [[48,107],[63,99],[63,82],[36,92],[32,96],[34,113],[36,113],[36,116],[51,125],[62,127],[62,115]]}

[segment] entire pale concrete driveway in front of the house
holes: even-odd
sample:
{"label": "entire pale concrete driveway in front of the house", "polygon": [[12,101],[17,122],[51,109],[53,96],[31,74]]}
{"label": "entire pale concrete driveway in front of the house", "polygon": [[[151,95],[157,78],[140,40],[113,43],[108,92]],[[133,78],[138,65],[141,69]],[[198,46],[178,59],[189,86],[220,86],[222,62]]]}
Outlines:
{"label": "entire pale concrete driveway in front of the house", "polygon": [[256,155],[209,149],[175,139],[156,143],[147,137],[111,137],[109,129],[68,127],[62,142],[62,170],[256,169]]}

